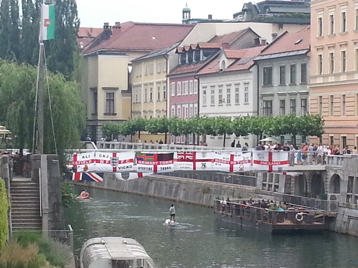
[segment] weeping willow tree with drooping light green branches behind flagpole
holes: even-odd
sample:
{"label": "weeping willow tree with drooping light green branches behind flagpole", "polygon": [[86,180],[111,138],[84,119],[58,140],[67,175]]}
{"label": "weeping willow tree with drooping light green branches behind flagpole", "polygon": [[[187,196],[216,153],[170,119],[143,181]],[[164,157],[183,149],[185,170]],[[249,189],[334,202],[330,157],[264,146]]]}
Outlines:
{"label": "weeping willow tree with drooping light green branches behind flagpole", "polygon": [[[36,81],[37,68],[0,61],[0,121],[11,130],[13,145],[20,149],[33,147]],[[85,107],[77,83],[66,81],[62,74],[49,72],[51,118],[46,81],[44,79],[43,86],[44,153],[55,153],[55,137],[59,157],[63,160],[65,149],[78,146],[85,125]]]}

